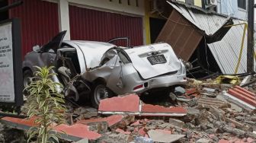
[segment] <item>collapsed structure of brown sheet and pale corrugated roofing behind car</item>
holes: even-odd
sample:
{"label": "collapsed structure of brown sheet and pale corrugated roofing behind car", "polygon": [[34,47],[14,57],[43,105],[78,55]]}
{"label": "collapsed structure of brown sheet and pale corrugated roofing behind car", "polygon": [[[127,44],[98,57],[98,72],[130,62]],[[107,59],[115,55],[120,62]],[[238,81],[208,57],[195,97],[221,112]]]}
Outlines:
{"label": "collapsed structure of brown sheet and pale corrugated roofing behind car", "polygon": [[171,12],[155,42],[171,44],[181,59],[190,62],[194,68],[188,75],[235,74],[236,66],[238,74],[246,72],[246,21],[178,2],[168,5]]}

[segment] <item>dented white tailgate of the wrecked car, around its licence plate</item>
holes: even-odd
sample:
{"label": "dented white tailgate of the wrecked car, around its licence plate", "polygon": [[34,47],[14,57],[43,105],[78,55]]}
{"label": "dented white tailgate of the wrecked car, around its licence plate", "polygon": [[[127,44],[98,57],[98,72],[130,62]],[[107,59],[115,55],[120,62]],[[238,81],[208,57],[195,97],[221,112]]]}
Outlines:
{"label": "dented white tailgate of the wrecked car, around its licence plate", "polygon": [[[181,62],[175,55],[173,49],[168,43],[156,43],[149,46],[137,46],[133,49],[124,49],[127,55],[133,62],[134,68],[139,72],[139,75],[144,78],[154,78],[159,75],[168,73],[176,73],[181,68]],[[158,55],[165,56],[166,62],[152,65],[148,57],[154,56],[152,52]]]}

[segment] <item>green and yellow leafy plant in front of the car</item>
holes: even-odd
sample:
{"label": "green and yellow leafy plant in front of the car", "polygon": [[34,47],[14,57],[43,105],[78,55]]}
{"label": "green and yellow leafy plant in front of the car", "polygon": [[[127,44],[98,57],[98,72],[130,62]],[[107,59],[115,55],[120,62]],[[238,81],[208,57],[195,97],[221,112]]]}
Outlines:
{"label": "green and yellow leafy plant in front of the car", "polygon": [[34,80],[25,87],[28,91],[27,97],[27,116],[29,119],[35,118],[36,127],[31,127],[27,132],[29,142],[32,138],[37,138],[37,142],[46,143],[59,142],[59,135],[53,131],[53,126],[65,122],[66,107],[64,96],[59,94],[58,87],[62,85],[54,82],[51,77],[50,68],[37,68],[34,73]]}

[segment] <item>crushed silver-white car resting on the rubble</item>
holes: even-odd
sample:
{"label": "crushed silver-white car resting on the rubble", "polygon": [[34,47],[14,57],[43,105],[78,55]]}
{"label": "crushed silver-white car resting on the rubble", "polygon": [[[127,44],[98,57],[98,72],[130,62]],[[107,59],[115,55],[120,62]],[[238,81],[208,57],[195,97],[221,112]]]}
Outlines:
{"label": "crushed silver-white car resting on the rubble", "polygon": [[147,94],[155,89],[171,92],[185,84],[186,69],[167,43],[119,47],[93,41],[62,41],[66,31],[50,43],[34,46],[23,63],[24,86],[30,84],[34,66],[50,66],[63,84],[65,95],[78,101],[90,96],[93,106],[101,99],[118,94]]}

